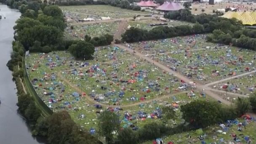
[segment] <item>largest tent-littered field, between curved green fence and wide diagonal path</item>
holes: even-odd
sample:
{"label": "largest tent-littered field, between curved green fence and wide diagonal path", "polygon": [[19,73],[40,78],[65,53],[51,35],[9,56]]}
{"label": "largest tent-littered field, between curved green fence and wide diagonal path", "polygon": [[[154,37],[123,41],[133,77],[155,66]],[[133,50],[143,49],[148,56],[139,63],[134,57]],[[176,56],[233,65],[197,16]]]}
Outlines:
{"label": "largest tent-littered field, between curved green fence and wide diagonal path", "polygon": [[[134,116],[129,125],[135,123],[141,127],[152,120],[160,121],[155,117],[144,122],[143,117],[160,111],[165,104],[176,102],[179,113],[179,104],[209,99],[187,91],[189,88],[179,90],[184,84],[172,75],[139,58],[131,59],[131,54],[117,47],[96,48],[94,57],[90,61],[75,61],[64,51],[26,56],[27,72],[40,98],[53,111],[68,110],[85,128],[96,128],[96,112],[101,107],[95,104],[102,109],[113,107],[124,120],[124,127],[128,123],[123,115],[129,112]],[[143,111],[143,117],[139,111]]]}

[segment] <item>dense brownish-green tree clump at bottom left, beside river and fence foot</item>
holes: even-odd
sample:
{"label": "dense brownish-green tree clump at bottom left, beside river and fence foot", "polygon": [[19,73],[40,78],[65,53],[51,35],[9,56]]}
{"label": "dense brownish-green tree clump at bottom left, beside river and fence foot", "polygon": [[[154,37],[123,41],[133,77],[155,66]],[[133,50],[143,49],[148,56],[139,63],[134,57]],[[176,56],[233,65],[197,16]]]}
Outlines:
{"label": "dense brownish-green tree clump at bottom left, beside river and fence foot", "polygon": [[101,144],[76,125],[67,111],[56,112],[40,120],[34,133],[48,137],[50,144]]}

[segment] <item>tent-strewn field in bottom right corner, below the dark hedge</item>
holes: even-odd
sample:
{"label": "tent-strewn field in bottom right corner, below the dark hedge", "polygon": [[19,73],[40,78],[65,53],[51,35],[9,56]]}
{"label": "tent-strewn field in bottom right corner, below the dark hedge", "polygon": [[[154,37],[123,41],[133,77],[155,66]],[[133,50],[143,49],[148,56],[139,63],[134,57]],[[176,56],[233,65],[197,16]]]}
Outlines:
{"label": "tent-strewn field in bottom right corner, below the dark hedge", "polygon": [[[245,126],[242,127],[242,131],[237,131],[238,123],[245,124]],[[224,123],[224,125],[227,127],[227,123]],[[228,131],[224,131],[219,125],[214,125],[210,128],[203,129],[203,131],[189,131],[187,133],[165,136],[162,139],[165,144],[169,141],[172,141],[174,144],[202,144],[202,141],[206,142],[206,144],[230,144],[229,142],[235,142],[235,144],[241,142],[240,144],[246,144],[246,138],[249,137],[251,144],[254,144],[256,137],[255,126],[255,120],[239,118],[232,121],[232,125],[228,128]],[[203,140],[199,139],[200,135],[203,136]],[[237,136],[236,140],[234,140],[234,135]],[[143,144],[152,144],[152,141]]]}

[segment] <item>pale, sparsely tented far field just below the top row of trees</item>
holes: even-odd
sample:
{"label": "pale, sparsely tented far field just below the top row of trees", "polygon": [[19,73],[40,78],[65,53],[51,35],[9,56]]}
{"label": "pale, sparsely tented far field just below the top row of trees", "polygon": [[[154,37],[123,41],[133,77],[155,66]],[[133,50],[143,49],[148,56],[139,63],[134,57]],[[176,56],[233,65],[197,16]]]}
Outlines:
{"label": "pale, sparsely tented far field just below the top row of trees", "polygon": [[97,16],[109,16],[112,19],[133,17],[136,15],[148,15],[148,12],[132,11],[110,5],[77,5],[77,6],[61,6],[63,11],[72,11],[83,14],[93,14]]}

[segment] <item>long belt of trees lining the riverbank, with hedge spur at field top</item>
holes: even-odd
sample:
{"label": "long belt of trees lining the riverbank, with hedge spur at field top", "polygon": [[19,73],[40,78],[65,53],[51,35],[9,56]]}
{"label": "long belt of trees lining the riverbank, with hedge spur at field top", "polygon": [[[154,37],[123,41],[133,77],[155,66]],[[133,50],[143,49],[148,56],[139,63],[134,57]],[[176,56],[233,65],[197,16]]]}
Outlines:
{"label": "long belt of trees lining the riverbank, with hedge spur at field top", "polygon": [[[82,42],[80,40],[64,40],[63,32],[66,24],[58,6],[48,5],[41,1],[1,0],[1,2],[7,3],[11,8],[19,8],[21,12],[20,19],[13,27],[15,41],[13,41],[11,60],[8,61],[7,66],[13,71],[13,80],[15,80],[19,96],[18,110],[27,119],[32,134],[45,137],[49,144],[101,144],[87,130],[76,125],[67,112],[53,113],[48,117],[43,116],[42,110],[35,104],[34,97],[24,92],[20,78],[24,79],[25,67],[22,67],[22,61],[27,50],[50,52],[75,49],[78,51],[79,49],[76,48],[79,46],[89,47],[90,51],[84,52],[92,56],[94,45],[109,44],[107,40],[112,41],[112,36],[104,35],[100,40],[99,38],[90,38],[89,41]],[[81,58],[78,56],[77,59]],[[86,57],[86,59],[91,59],[91,57]]]}

